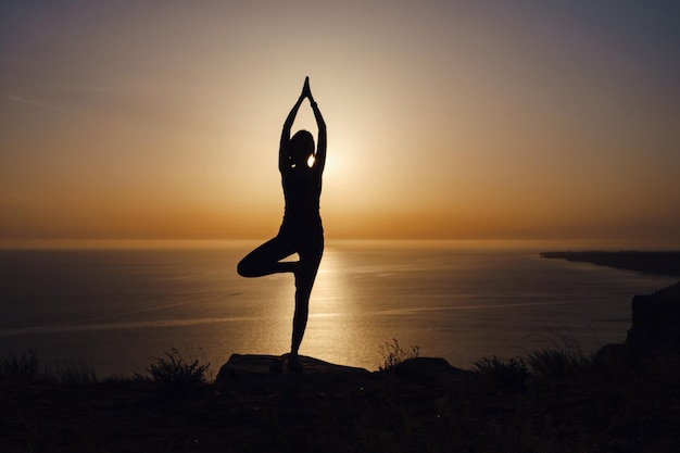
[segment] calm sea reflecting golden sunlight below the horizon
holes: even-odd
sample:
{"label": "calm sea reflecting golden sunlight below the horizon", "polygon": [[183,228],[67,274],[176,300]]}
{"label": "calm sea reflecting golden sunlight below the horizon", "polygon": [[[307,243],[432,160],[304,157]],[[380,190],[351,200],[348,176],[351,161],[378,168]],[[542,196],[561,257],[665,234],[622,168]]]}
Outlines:
{"label": "calm sea reflecting golden sunlight below the horizon", "polygon": [[[0,250],[0,355],[37,352],[98,376],[143,373],[171,348],[210,362],[290,345],[293,278],[241,278],[254,242]],[[542,249],[546,247],[543,246]],[[330,242],[301,353],[377,369],[396,339],[469,367],[518,356],[569,326],[584,349],[621,342],[633,294],[676,282],[475,242]]]}

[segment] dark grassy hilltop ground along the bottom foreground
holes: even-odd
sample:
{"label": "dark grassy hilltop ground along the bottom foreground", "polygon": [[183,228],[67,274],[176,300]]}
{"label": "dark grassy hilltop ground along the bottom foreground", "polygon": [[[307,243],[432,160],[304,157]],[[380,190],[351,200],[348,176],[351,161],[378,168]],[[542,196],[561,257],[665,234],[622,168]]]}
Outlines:
{"label": "dark grassy hilltop ground along the bottom foreground", "polygon": [[[255,360],[256,357],[241,357]],[[596,362],[562,376],[412,358],[355,368],[0,386],[0,452],[670,452],[680,361]],[[522,376],[525,378],[522,378]]]}

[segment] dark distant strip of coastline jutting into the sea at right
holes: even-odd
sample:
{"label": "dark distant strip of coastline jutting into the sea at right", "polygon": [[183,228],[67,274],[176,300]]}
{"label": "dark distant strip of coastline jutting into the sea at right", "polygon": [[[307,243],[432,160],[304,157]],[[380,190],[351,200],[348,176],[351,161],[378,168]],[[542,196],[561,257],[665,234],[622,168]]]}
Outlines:
{"label": "dark distant strip of coastline jutting into the sea at right", "polygon": [[645,274],[671,275],[680,277],[680,251],[581,251],[542,252],[541,257],[584,262],[619,269],[637,270]]}

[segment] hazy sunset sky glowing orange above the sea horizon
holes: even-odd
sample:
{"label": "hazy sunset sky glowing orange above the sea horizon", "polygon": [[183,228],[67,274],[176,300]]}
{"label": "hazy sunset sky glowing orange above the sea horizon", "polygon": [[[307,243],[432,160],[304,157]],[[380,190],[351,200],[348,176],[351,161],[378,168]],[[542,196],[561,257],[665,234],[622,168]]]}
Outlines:
{"label": "hazy sunset sky glowing orange above the sea horizon", "polygon": [[327,239],[680,247],[680,3],[628,0],[3,1],[0,241],[274,236],[305,76]]}

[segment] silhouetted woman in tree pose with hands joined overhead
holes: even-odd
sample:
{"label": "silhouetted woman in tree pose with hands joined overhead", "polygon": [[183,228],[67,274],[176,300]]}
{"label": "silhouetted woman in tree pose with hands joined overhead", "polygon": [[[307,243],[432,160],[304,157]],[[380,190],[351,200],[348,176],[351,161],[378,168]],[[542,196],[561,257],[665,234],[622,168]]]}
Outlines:
{"label": "silhouetted woman in tree pose with hands joined overhead", "polygon": [[[318,143],[307,130],[299,130],[291,138],[290,128],[302,101],[307,98],[318,126]],[[286,207],[278,235],[250,252],[238,264],[243,277],[261,277],[276,273],[292,273],[295,277],[295,311],[288,357],[291,370],[301,370],[298,350],[307,324],[310,294],[324,253],[324,228],[319,215],[322,173],[326,163],[326,123],[314,101],[306,77],[302,93],[291,109],[281,131],[278,168],[281,174]],[[282,262],[298,253],[295,262]]]}

